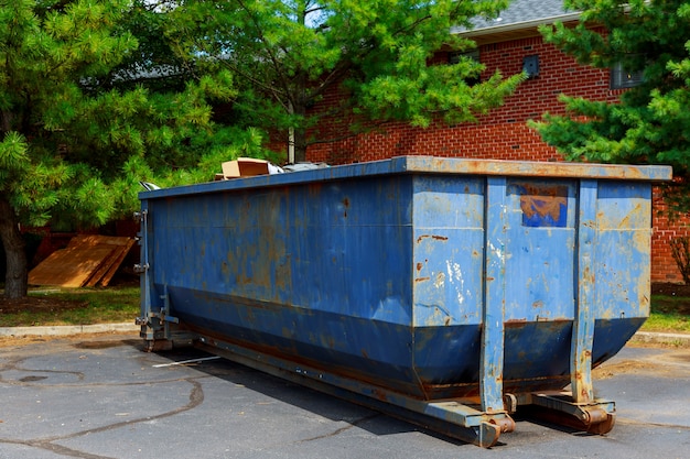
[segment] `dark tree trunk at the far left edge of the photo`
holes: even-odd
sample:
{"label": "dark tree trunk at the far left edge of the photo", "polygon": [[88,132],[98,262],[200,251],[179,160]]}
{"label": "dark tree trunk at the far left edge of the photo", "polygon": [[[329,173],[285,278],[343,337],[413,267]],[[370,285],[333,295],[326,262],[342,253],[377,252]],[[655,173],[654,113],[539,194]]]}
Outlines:
{"label": "dark tree trunk at the far left edge of the photo", "polygon": [[0,237],[7,259],[4,297],[22,298],[26,296],[29,283],[25,244],[14,209],[4,196],[0,196]]}

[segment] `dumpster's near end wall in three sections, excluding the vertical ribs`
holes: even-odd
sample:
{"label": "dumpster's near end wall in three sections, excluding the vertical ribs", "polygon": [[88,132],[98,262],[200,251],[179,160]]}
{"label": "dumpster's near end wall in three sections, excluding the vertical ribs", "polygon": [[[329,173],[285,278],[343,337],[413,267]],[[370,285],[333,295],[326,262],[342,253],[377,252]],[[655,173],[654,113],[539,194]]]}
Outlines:
{"label": "dumpster's near end wall in three sections, excluding the vertical ribs", "polygon": [[[579,317],[596,318],[589,346],[599,364],[648,316],[648,184],[592,182],[597,187],[594,201],[583,205],[595,206],[587,211],[596,215],[596,249],[592,260],[581,261],[578,231],[590,223],[578,221],[578,179],[509,178],[503,229],[489,245],[484,239],[488,216],[479,211],[497,210],[485,201],[484,178],[453,183],[425,177],[416,183],[414,364],[429,397],[478,391],[486,278],[474,274],[485,273],[486,251],[500,251],[504,260],[505,285],[493,288],[504,288],[506,392],[559,390],[570,383],[573,321]],[[575,308],[575,270],[581,264],[594,273],[596,299],[582,304],[586,314]]]}

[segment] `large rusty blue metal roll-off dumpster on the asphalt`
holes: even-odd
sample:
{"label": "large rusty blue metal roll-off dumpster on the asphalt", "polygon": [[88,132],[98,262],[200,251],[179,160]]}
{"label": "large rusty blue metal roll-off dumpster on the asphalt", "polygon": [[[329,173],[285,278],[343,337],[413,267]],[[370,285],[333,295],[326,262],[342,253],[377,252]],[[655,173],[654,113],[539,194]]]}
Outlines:
{"label": "large rusty blue metal roll-off dumpster on the asphalt", "polygon": [[593,433],[649,314],[670,167],[427,156],[140,195],[141,337],[489,447],[521,405]]}

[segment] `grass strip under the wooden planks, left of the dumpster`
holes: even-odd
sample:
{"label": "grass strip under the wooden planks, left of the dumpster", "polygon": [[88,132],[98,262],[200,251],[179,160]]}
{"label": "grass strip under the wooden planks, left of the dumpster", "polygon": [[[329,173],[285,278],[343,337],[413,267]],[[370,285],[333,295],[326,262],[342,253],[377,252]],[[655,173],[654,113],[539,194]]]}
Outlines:
{"label": "grass strip under the wooden planks, left of the dumpster", "polygon": [[138,286],[46,289],[31,292],[29,296],[30,299],[44,299],[45,304],[52,303],[55,307],[31,307],[28,310],[0,314],[0,327],[133,324],[140,315]]}

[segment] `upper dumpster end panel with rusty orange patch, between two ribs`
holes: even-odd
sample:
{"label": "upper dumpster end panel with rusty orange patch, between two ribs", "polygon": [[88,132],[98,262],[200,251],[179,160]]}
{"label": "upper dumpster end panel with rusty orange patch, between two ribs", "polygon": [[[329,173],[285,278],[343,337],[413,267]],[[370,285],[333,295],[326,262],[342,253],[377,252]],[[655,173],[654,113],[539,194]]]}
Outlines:
{"label": "upper dumpster end panel with rusty orange patch, between two ribs", "polygon": [[506,323],[572,319],[575,210],[573,181],[509,181]]}

